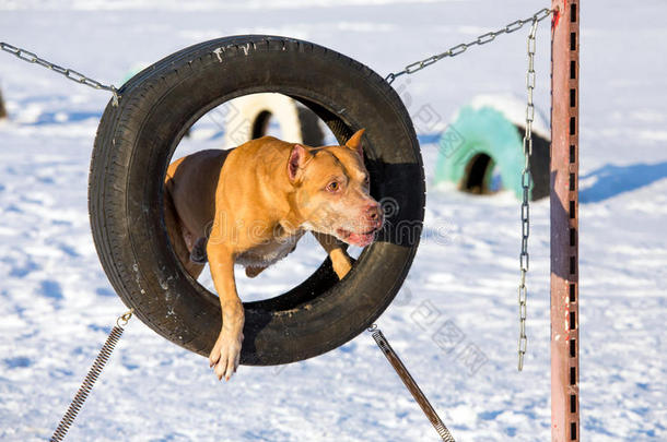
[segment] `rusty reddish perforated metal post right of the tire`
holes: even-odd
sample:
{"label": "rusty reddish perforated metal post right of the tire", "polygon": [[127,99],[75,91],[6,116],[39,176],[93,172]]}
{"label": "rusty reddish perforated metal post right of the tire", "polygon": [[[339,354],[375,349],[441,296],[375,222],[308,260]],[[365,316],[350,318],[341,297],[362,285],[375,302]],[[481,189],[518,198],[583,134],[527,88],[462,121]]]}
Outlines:
{"label": "rusty reddish perforated metal post right of the tire", "polygon": [[580,440],[580,0],[552,0],[551,440]]}

